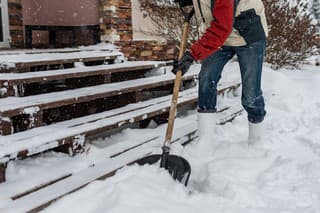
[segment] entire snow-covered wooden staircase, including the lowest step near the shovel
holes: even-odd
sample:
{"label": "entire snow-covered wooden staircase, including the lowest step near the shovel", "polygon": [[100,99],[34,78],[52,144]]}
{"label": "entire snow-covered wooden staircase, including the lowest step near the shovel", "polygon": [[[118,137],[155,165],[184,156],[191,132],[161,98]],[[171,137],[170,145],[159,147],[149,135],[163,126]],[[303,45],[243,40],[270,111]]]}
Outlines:
{"label": "entire snow-covered wooden staircase, including the lowest step near the shovel", "polygon": [[[118,53],[101,51],[101,58],[98,52],[37,53],[20,60],[13,54],[3,62],[10,66],[0,69],[0,182],[5,181],[10,161],[52,149],[73,156],[84,150],[88,137],[133,124],[145,127],[152,119],[166,122],[175,79],[167,67],[170,62],[122,62]],[[55,55],[48,58],[50,54]],[[196,106],[197,66],[183,77],[179,109]],[[239,87],[238,82],[221,83],[218,94]],[[232,106],[220,109],[217,125],[241,112]],[[176,128],[184,134],[174,135],[174,142],[186,145],[197,137],[196,122],[177,123]],[[157,133],[139,139],[104,149],[100,158],[79,172],[49,172],[50,180],[22,188],[0,184],[0,191],[5,192],[0,198],[10,200],[0,205],[0,212],[38,212],[152,153],[163,136]]]}

